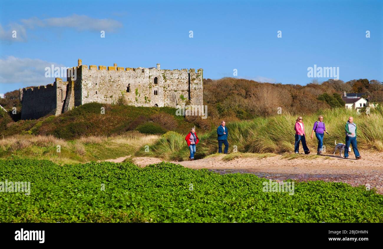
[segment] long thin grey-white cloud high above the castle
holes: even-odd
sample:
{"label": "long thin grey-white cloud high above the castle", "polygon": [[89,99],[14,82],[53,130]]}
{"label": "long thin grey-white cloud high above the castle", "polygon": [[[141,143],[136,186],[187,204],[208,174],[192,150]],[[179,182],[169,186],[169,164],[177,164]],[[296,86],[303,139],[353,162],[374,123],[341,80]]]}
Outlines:
{"label": "long thin grey-white cloud high above the castle", "polygon": [[30,29],[34,29],[35,27],[68,27],[74,28],[78,31],[90,30],[98,32],[101,30],[115,32],[123,26],[119,21],[114,19],[97,19],[86,15],[76,14],[66,17],[46,19],[33,17],[29,19],[21,19],[21,22]]}

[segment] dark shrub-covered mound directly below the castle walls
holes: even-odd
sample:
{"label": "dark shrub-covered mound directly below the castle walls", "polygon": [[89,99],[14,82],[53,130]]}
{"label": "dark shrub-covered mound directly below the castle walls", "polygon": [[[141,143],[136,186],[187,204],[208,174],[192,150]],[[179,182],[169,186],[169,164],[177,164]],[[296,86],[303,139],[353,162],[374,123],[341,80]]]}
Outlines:
{"label": "dark shrub-covered mound directly below the castle walls", "polygon": [[[105,108],[105,114],[101,114],[101,107]],[[74,139],[82,136],[111,136],[132,130],[146,134],[190,131],[195,124],[187,121],[183,116],[176,116],[175,113],[176,109],[169,107],[88,103],[59,116],[13,122],[8,113],[2,112],[0,136],[33,134]]]}

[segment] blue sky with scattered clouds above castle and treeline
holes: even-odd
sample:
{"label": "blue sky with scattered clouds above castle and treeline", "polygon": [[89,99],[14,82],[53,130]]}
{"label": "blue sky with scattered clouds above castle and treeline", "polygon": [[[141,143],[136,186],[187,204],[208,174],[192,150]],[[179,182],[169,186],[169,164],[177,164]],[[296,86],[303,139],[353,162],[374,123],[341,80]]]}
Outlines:
{"label": "blue sky with scattered clouds above castle and treeline", "polygon": [[0,93],[52,83],[46,66],[78,58],[302,85],[308,67],[339,66],[344,81],[383,81],[383,1],[1,2]]}

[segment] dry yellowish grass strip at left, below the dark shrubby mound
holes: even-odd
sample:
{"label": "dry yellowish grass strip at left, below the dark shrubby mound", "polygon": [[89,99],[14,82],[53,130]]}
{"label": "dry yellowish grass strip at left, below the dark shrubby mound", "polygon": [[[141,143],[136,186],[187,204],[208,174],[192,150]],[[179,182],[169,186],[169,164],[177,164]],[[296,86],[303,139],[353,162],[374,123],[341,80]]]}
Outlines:
{"label": "dry yellowish grass strip at left, below the dark shrubby mound", "polygon": [[137,131],[111,137],[80,137],[72,141],[52,135],[15,135],[0,139],[0,158],[13,155],[20,158],[49,159],[59,164],[98,161],[134,154],[141,146],[151,144],[158,138],[157,135],[145,135]]}

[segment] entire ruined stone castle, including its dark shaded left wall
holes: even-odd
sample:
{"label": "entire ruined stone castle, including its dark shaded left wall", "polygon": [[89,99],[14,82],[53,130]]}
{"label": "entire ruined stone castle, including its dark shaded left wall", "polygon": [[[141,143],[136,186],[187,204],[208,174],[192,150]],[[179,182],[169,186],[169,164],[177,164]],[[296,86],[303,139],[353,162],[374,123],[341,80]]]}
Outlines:
{"label": "entire ruined stone castle, including its dark shaded left wall", "polygon": [[[161,70],[82,65],[67,69],[67,81],[19,89],[21,119],[60,115],[90,102],[118,103],[143,107],[177,107],[182,103],[203,105],[203,70]],[[75,77],[74,77],[75,76]]]}

